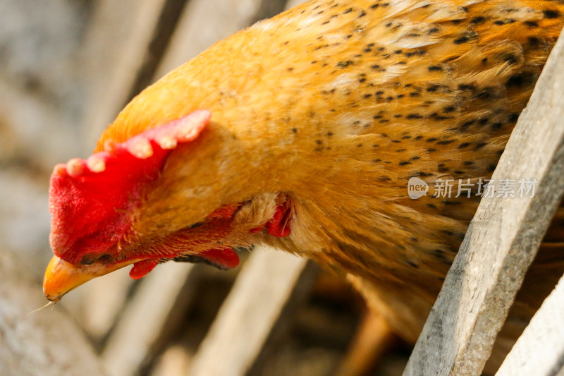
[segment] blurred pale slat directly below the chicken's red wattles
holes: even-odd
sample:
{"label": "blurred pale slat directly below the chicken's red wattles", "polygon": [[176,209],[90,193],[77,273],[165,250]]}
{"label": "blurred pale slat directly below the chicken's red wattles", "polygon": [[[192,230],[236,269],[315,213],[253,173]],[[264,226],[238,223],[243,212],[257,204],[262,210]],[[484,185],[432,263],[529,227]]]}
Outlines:
{"label": "blurred pale slat directly below the chicken's red wattles", "polygon": [[174,313],[183,310],[192,298],[196,267],[168,262],[141,280],[102,353],[111,375],[137,375],[152,360],[155,346],[180,320]]}

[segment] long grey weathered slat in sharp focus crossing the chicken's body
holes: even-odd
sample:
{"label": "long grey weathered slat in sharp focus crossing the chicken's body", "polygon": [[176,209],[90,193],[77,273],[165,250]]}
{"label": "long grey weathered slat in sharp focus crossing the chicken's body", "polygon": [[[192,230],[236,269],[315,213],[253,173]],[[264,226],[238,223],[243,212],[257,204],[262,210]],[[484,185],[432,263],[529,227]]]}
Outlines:
{"label": "long grey weathered slat in sharp focus crossing the chicken's body", "polygon": [[534,198],[483,198],[404,375],[479,375],[564,190],[564,38],[493,178],[537,178]]}

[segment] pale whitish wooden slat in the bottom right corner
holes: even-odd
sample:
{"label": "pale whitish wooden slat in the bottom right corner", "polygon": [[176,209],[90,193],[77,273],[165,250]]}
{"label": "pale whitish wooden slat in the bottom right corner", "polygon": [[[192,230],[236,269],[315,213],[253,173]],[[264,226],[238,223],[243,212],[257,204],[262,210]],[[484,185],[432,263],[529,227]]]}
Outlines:
{"label": "pale whitish wooden slat in the bottom right corner", "polygon": [[563,370],[564,277],[542,303],[496,376],[555,376]]}

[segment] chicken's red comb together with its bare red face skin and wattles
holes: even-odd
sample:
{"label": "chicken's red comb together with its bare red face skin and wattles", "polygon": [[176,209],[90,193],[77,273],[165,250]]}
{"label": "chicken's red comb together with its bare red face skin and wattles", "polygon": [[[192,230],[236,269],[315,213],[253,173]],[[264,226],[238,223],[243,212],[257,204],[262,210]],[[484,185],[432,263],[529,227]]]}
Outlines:
{"label": "chicken's red comb together with its bare red face skin and wattles", "polygon": [[[104,145],[104,151],[88,159],[71,159],[55,166],[51,175],[51,248],[56,256],[78,264],[92,253],[118,254],[118,242],[130,230],[130,212],[140,204],[145,188],[159,177],[168,154],[179,143],[190,142],[210,118],[201,110],[135,135],[123,143]],[[221,239],[230,231],[240,204],[223,205],[207,217],[208,233],[187,229],[173,234],[168,247],[154,249],[147,259],[135,262],[130,277],[144,277],[162,260],[178,257],[178,250],[202,239]],[[266,228],[273,236],[288,236],[293,209],[290,202],[278,205],[274,217],[252,232]],[[176,253],[175,253],[176,252]],[[227,245],[192,255],[222,269],[236,267],[239,257]],[[127,259],[137,259],[132,255]]]}

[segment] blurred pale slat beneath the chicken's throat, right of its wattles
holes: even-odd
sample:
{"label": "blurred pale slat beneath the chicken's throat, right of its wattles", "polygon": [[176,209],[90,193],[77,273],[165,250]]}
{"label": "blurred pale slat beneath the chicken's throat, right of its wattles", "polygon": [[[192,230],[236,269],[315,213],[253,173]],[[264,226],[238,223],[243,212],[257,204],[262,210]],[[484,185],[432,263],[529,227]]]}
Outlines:
{"label": "blurred pale slat beneath the chicken's throat, right of its wattles", "polygon": [[306,260],[280,250],[253,250],[188,375],[245,375],[282,313],[309,290],[314,269],[307,265]]}

